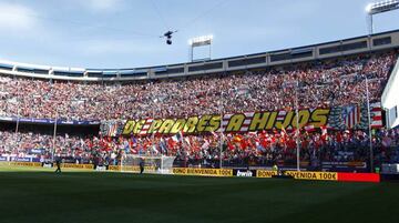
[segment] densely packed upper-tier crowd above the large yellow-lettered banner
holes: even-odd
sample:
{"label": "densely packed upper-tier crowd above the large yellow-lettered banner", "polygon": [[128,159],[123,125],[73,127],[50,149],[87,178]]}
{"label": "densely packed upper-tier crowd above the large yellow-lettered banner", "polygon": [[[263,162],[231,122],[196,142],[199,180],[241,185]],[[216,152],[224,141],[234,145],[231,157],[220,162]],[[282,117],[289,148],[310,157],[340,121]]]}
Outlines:
{"label": "densely packed upper-tier crowd above the large yellow-lettered banner", "polygon": [[[171,118],[347,105],[380,98],[396,51],[236,73],[131,83],[60,82],[0,77],[0,116],[65,120]],[[298,88],[296,88],[296,82]],[[296,90],[297,89],[297,90]],[[297,92],[298,91],[298,92]]]}

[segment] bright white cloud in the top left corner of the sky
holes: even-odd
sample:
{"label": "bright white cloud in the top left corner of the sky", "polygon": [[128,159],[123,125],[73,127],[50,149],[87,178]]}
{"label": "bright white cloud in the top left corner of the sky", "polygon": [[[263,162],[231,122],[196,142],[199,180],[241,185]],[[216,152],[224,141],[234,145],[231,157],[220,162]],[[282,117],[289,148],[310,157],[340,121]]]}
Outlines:
{"label": "bright white cloud in the top left corner of the sky", "polygon": [[32,30],[38,24],[35,16],[35,12],[25,6],[0,2],[0,29],[2,30]]}

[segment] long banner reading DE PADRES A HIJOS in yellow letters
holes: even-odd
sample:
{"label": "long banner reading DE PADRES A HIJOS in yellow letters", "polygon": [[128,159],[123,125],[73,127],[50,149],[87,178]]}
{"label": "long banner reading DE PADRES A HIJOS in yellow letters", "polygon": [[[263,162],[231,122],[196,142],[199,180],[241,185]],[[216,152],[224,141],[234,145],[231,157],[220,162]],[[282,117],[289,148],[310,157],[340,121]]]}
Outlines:
{"label": "long banner reading DE PADRES A HIJOS in yellow letters", "polygon": [[[371,125],[382,128],[382,110],[380,103],[372,103]],[[177,119],[142,119],[127,121],[110,121],[101,125],[103,135],[149,135],[149,134],[176,134],[206,133],[206,132],[255,132],[273,129],[305,130],[327,126],[336,130],[367,129],[367,107],[350,105],[331,109],[301,109],[296,112],[290,110],[246,112],[234,114],[193,115]]]}

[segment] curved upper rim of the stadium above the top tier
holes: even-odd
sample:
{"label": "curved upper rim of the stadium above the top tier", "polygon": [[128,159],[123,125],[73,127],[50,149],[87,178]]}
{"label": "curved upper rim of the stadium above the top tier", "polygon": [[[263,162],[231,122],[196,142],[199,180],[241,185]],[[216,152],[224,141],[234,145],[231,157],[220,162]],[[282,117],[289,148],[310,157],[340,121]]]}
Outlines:
{"label": "curved upper rim of the stadium above the top tier", "polygon": [[73,81],[134,81],[259,69],[399,48],[399,30],[270,52],[147,68],[85,69],[2,60],[3,74]]}

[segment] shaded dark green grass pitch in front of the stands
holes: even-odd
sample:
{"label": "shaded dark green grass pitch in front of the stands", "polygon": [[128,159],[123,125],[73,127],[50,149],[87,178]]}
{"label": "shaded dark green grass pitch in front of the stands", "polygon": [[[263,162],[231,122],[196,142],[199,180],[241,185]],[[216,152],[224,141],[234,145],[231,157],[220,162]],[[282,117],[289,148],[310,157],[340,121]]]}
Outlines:
{"label": "shaded dark green grass pitch in front of the stands", "polygon": [[399,184],[0,166],[1,223],[398,222]]}

